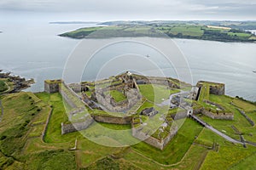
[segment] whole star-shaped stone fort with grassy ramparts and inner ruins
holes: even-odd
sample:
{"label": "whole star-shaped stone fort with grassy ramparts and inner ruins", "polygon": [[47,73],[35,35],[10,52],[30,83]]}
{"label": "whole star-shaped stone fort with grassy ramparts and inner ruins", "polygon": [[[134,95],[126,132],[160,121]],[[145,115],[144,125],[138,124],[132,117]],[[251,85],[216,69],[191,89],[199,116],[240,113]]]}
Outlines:
{"label": "whole star-shaped stone fort with grassy ramparts and inner ruins", "polygon": [[176,121],[184,117],[205,127],[207,123],[196,114],[234,118],[228,108],[209,99],[209,94],[224,95],[224,84],[217,82],[198,82],[192,87],[170,77],[144,77],[127,71],[96,82],[46,80],[44,91],[59,92],[64,100],[68,120],[61,123],[63,135],[84,130],[93,122],[131,124],[133,137],[160,150],[177,133]]}

